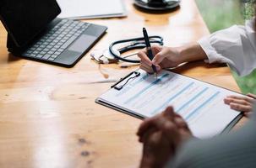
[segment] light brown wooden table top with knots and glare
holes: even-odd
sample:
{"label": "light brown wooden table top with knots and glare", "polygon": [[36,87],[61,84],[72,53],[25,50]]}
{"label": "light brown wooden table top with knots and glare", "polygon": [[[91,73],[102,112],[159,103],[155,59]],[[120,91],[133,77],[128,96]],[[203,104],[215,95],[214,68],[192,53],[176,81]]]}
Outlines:
{"label": "light brown wooden table top with knots and glare", "polygon": [[[193,0],[172,13],[150,14],[125,0],[127,18],[95,19],[108,33],[94,49],[117,39],[138,37],[142,27],[177,46],[209,34]],[[137,167],[141,120],[95,104],[120,76],[135,67],[99,66],[84,56],[67,69],[8,54],[0,26],[0,167]],[[91,50],[90,50],[91,51]],[[179,73],[238,91],[226,66],[189,63]],[[106,79],[102,73],[108,74]],[[242,123],[242,122],[240,122]]]}

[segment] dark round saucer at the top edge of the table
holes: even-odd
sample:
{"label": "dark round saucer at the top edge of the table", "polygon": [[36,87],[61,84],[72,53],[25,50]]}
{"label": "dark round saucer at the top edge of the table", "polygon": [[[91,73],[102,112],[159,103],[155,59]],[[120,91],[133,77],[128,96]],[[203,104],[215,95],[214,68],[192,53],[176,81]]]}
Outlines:
{"label": "dark round saucer at the top edge of the table", "polygon": [[181,0],[135,0],[134,5],[149,11],[166,11],[177,8]]}

